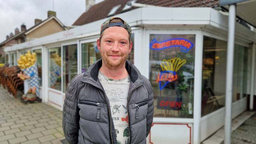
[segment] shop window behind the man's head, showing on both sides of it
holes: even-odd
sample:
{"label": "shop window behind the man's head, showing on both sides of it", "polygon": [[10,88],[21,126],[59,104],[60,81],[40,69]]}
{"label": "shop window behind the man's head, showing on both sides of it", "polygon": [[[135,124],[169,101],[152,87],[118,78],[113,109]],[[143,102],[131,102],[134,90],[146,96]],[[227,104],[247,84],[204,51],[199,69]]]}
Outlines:
{"label": "shop window behind the man's head, showing on both sides of it", "polygon": [[[134,33],[131,35],[133,43],[131,53],[128,55],[127,60],[134,63]],[[85,72],[90,65],[101,59],[100,51],[96,42],[83,43],[82,47],[82,73]]]}

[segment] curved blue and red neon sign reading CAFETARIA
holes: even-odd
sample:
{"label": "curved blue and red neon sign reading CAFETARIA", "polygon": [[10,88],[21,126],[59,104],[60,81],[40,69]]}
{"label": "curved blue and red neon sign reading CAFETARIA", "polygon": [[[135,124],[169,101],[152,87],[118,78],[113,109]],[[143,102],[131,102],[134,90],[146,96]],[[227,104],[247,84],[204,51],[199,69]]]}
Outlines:
{"label": "curved blue and red neon sign reading CAFETARIA", "polygon": [[184,38],[173,38],[159,42],[156,39],[153,39],[149,44],[149,48],[152,50],[162,50],[172,47],[181,47],[180,51],[184,53],[188,52],[193,46],[194,45],[192,42]]}

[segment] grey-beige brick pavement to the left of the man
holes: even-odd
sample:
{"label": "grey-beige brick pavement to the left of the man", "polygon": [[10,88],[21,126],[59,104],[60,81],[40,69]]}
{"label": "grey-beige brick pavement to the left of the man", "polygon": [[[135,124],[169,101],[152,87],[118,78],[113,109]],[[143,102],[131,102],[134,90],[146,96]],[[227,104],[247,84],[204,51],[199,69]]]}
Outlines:
{"label": "grey-beige brick pavement to the left of the man", "polygon": [[62,144],[62,112],[44,103],[23,104],[0,87],[0,144]]}

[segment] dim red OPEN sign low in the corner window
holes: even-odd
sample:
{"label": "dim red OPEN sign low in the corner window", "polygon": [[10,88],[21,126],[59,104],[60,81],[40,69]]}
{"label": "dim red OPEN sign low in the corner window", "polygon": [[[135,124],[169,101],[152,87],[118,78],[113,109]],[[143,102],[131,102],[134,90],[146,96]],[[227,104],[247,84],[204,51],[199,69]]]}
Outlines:
{"label": "dim red OPEN sign low in the corner window", "polygon": [[173,97],[158,97],[157,108],[158,109],[175,109],[180,108],[182,102]]}

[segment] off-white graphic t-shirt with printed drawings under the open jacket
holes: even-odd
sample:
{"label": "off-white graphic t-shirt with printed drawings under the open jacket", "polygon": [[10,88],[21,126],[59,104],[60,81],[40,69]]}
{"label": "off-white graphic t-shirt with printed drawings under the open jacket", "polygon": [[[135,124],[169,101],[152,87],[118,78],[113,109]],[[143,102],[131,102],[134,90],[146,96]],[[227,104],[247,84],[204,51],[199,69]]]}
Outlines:
{"label": "off-white graphic t-shirt with printed drawings under the open jacket", "polygon": [[116,139],[118,144],[128,144],[129,125],[127,96],[130,87],[131,78],[128,77],[120,80],[107,78],[100,71],[98,74],[105,93],[109,99],[112,120],[114,122]]}

